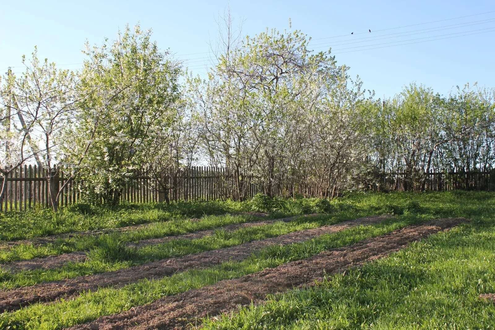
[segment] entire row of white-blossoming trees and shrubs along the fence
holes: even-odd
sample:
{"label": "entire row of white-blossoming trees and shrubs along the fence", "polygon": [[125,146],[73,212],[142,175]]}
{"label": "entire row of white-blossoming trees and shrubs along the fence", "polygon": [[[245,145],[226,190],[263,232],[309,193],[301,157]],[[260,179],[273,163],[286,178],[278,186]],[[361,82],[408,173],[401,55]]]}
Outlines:
{"label": "entire row of white-blossoming trees and shrubs along the fence", "polygon": [[[494,167],[494,88],[466,84],[443,96],[413,82],[376,99],[302,32],[242,38],[230,25],[201,78],[150,37],[137,25],[87,43],[75,72],[35,49],[24,73],[1,78],[0,203],[6,176],[26,162],[64,167],[89,200],[110,205],[136,169],[168,191],[198,162],[226,168],[233,199],[246,197],[252,176],[267,195],[276,185],[295,196],[304,183],[331,198],[363,179],[380,185],[387,171],[422,191],[431,170]],[[58,205],[64,185],[49,189]]]}

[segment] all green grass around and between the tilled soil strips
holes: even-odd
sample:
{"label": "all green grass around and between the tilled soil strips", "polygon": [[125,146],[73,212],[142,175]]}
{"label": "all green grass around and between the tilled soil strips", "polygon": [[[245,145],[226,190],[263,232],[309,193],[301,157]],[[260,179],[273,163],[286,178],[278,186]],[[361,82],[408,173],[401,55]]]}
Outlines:
{"label": "all green grass around and between the tilled soil strips", "polygon": [[[22,246],[23,249],[29,246],[31,254],[25,254],[25,259],[36,253],[42,254],[37,251],[43,249],[51,249],[51,255],[55,257],[67,251],[87,251],[88,259],[48,270],[3,271],[1,285],[4,293],[0,294],[0,306],[5,312],[0,315],[0,327],[90,329],[81,325],[90,322],[90,327],[92,324],[100,325],[100,322],[117,322],[121,314],[124,317],[133,309],[150,306],[146,304],[159,306],[163,299],[183,297],[181,294],[207,289],[219,281],[224,283],[224,280],[263,274],[267,270],[276,272],[277,267],[317,257],[324,251],[352,246],[366,239],[393,234],[407,226],[448,217],[471,221],[433,234],[425,240],[415,240],[388,257],[345,270],[345,273],[327,275],[317,283],[310,282],[309,287],[269,295],[264,303],[259,304],[258,301],[237,311],[230,310],[233,314],[220,317],[210,314],[207,318],[193,318],[188,322],[205,329],[491,329],[494,324],[495,305],[478,298],[479,294],[495,292],[494,193],[352,193],[330,202],[276,199],[265,201],[262,205],[256,201],[217,203],[232,204],[234,207],[231,210],[236,212],[262,211],[268,215],[265,219],[316,212],[320,215],[298,216],[287,222],[263,222],[235,230],[221,228],[255,224],[261,218],[248,214],[205,216],[197,221],[185,219],[183,221],[187,225],[184,226],[177,219],[161,220],[129,231],[75,235],[61,238],[56,243],[22,243],[5,248],[1,251],[3,256],[12,255],[12,251]],[[190,214],[193,214],[194,208],[191,210]],[[135,219],[142,212],[146,214],[148,211],[134,210]],[[385,213],[392,216],[352,225],[353,219]],[[323,228],[329,229],[326,233],[301,236],[298,240],[284,240],[284,237]],[[213,232],[191,239],[181,239],[179,236],[178,239],[144,247],[126,245],[151,237],[194,233],[204,229],[213,229]],[[280,239],[281,243],[270,243],[270,239],[273,242]],[[84,243],[77,245],[77,241]],[[103,244],[102,241],[110,243]],[[253,248],[265,241],[265,245]],[[57,250],[57,246],[64,246],[63,242],[73,248]],[[91,244],[95,246],[90,248]],[[240,249],[248,249],[248,253],[235,259],[237,246],[246,246]],[[220,256],[222,251],[234,260],[222,257],[216,264],[201,267],[186,265],[202,258],[205,253],[215,257]],[[18,260],[23,260],[22,254],[17,253],[17,256],[20,257]],[[9,259],[3,257],[3,260]],[[165,263],[167,260],[168,264]],[[145,276],[149,267],[155,265],[153,263],[163,265],[160,267],[169,265],[172,273],[158,277]],[[181,268],[181,263],[186,266]],[[174,266],[176,264],[179,266]],[[144,275],[136,281],[105,282],[107,284],[90,291],[78,291],[78,288],[88,287],[83,283],[86,278],[93,278],[98,284],[107,275],[127,272],[133,267],[144,267]],[[176,271],[174,267],[178,267]],[[68,287],[75,285],[75,291],[65,299],[58,298],[64,293],[60,289],[57,289],[57,295],[39,298],[38,301],[28,296],[28,292],[36,290],[37,285],[48,285],[44,288],[49,291],[50,283],[57,285],[56,280],[65,281]],[[84,285],[81,286],[81,283]],[[26,305],[21,303],[25,307],[8,307],[13,306],[9,304],[10,300],[15,300],[14,297],[26,299]],[[132,327],[122,326],[122,329],[127,328]]]}

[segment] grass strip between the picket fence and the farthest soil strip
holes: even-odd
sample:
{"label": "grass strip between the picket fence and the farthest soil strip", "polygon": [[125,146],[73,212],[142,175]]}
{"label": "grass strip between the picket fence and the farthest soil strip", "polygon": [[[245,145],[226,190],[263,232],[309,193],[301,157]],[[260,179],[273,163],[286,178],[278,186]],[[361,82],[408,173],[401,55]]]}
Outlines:
{"label": "grass strip between the picket fence and the farthest soil strip", "polygon": [[[369,205],[369,201],[353,199],[328,201],[325,199],[267,199],[256,195],[245,202],[181,201],[170,205],[162,203],[130,204],[108,208],[76,204],[54,213],[50,209],[34,208],[27,211],[0,213],[0,241],[12,241],[94,229],[110,229],[149,222],[199,218],[237,212],[267,212],[274,218],[310,213],[334,213]],[[393,209],[393,208],[392,208]],[[391,209],[391,210],[392,210]]]}

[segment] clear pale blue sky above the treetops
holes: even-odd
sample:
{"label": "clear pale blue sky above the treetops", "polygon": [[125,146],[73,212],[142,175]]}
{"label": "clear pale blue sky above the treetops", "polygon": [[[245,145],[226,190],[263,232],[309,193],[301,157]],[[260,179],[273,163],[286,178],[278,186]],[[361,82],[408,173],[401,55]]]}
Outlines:
{"label": "clear pale blue sky above the treetops", "polygon": [[[81,64],[77,63],[84,59],[81,50],[86,39],[90,43],[101,44],[104,37],[114,38],[117,30],[125,24],[134,25],[137,22],[141,23],[142,28],[152,28],[153,37],[161,49],[170,48],[181,59],[202,57],[205,55],[185,54],[209,51],[208,43],[214,41],[218,34],[215,18],[227,4],[225,0],[70,2],[2,1],[2,74],[8,66],[12,66],[14,72],[22,70],[16,67],[21,65],[21,55],[30,54],[35,45],[40,57],[48,57],[57,64],[70,64],[61,66],[64,68],[80,68]],[[315,48],[331,46],[338,63],[350,66],[350,73],[359,75],[364,87],[375,90],[377,97],[391,97],[412,81],[430,86],[441,94],[447,94],[452,86],[466,82],[477,81],[480,85],[495,87],[493,0],[231,0],[229,4],[232,15],[236,19],[244,19],[243,33],[247,35],[259,33],[266,27],[283,30],[288,28],[291,18],[293,29],[301,30],[313,39],[342,36],[312,43],[325,43]],[[493,12],[486,13],[490,11]],[[474,16],[450,19],[466,15]],[[444,21],[395,29],[438,20]],[[452,26],[454,24],[457,25]],[[430,28],[426,30],[428,33],[417,31]],[[368,29],[371,29],[371,34]],[[350,35],[351,32],[354,34]],[[386,36],[392,33],[396,33],[393,35],[396,38]],[[402,46],[393,46],[396,44],[392,43],[401,40],[402,43],[406,43],[404,40],[412,43],[463,34],[472,35]],[[358,38],[368,37],[372,38],[364,39],[366,43],[355,43],[362,41]],[[388,39],[373,40],[378,38]],[[425,39],[411,40],[416,38]],[[382,43],[392,44],[377,45]],[[372,50],[351,48],[363,45],[373,45],[368,48],[393,47]],[[201,59],[199,62],[198,59],[190,61],[195,61],[189,64],[194,72],[204,74],[205,69],[200,67]]]}

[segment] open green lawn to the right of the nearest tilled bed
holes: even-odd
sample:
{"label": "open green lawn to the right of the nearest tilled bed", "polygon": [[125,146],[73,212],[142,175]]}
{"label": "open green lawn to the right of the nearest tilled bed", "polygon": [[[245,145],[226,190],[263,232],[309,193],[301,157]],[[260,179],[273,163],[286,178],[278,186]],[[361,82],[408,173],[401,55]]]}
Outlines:
{"label": "open green lawn to the right of the nearest tilled bed", "polygon": [[474,221],[314,288],[206,320],[204,329],[493,329],[495,304],[478,295],[495,292],[495,195],[414,197],[432,215]]}

